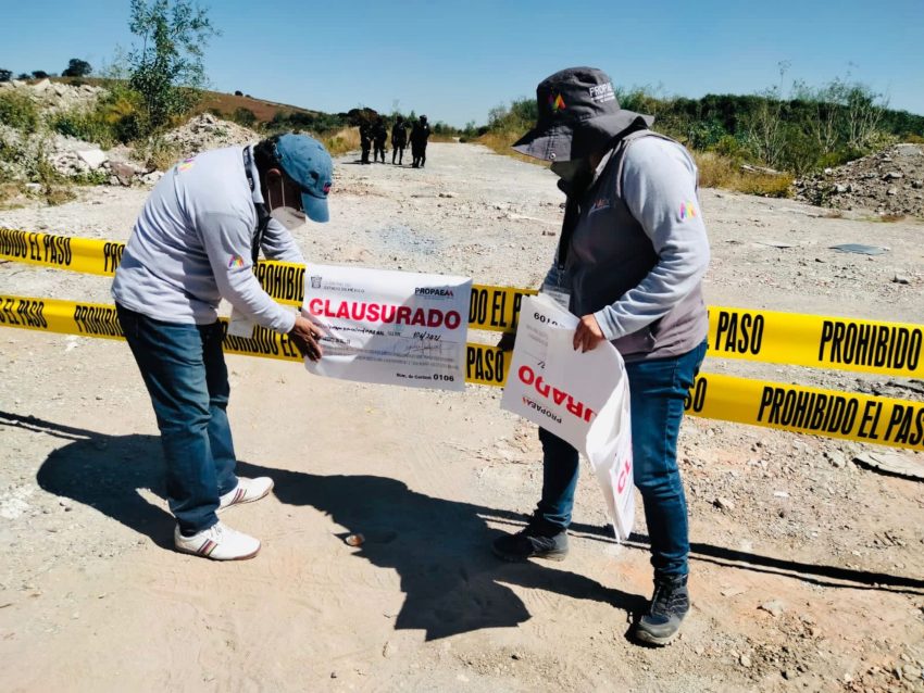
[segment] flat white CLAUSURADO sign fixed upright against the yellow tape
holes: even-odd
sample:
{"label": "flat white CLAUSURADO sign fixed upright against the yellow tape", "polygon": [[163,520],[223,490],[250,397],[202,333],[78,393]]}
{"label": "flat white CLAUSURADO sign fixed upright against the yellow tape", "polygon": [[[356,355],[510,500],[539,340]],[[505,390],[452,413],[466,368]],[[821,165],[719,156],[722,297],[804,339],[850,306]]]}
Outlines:
{"label": "flat white CLAUSURADO sign fixed upright against the yellow tape", "polygon": [[463,390],[472,279],[309,265],[302,312],[321,325],[311,373],[345,380]]}

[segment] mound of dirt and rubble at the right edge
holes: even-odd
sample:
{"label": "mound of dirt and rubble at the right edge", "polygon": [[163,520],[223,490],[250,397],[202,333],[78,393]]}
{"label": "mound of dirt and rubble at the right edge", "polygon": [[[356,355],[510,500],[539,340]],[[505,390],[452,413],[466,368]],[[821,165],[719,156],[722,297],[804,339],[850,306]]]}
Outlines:
{"label": "mound of dirt and rubble at the right edge", "polygon": [[796,181],[796,197],[839,210],[924,216],[924,147],[896,144]]}

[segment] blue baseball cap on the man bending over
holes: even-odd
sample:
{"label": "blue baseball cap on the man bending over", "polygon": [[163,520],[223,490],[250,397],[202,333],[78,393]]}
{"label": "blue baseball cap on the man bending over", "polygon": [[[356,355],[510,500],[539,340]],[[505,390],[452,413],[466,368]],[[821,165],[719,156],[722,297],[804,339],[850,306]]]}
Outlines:
{"label": "blue baseball cap on the man bending over", "polygon": [[324,144],[308,135],[288,133],[276,141],[276,159],[301,188],[301,205],[312,222],[330,218],[327,193],[334,185],[334,162]]}

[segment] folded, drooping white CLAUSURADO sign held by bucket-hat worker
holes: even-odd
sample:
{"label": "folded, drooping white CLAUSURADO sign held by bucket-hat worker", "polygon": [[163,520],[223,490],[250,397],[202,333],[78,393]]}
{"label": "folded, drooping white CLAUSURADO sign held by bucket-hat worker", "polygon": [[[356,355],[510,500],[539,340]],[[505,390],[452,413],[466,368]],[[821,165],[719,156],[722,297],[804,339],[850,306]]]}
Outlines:
{"label": "folded, drooping white CLAUSURADO sign held by bucket-hat worker", "polygon": [[500,405],[587,456],[624,541],[635,520],[628,377],[611,343],[574,350],[577,323],[549,295],[523,300]]}

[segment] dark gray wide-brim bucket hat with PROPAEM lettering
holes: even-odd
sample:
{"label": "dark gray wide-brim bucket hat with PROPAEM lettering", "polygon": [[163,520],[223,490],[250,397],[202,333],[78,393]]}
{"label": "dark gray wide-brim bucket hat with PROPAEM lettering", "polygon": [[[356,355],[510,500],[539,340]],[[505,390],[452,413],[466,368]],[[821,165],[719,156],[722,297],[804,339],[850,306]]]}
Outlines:
{"label": "dark gray wide-brim bucket hat with PROPAEM lettering", "polygon": [[545,161],[582,159],[654,123],[654,116],[620,108],[612,79],[596,67],[569,67],[547,77],[536,87],[536,126],[513,149]]}

